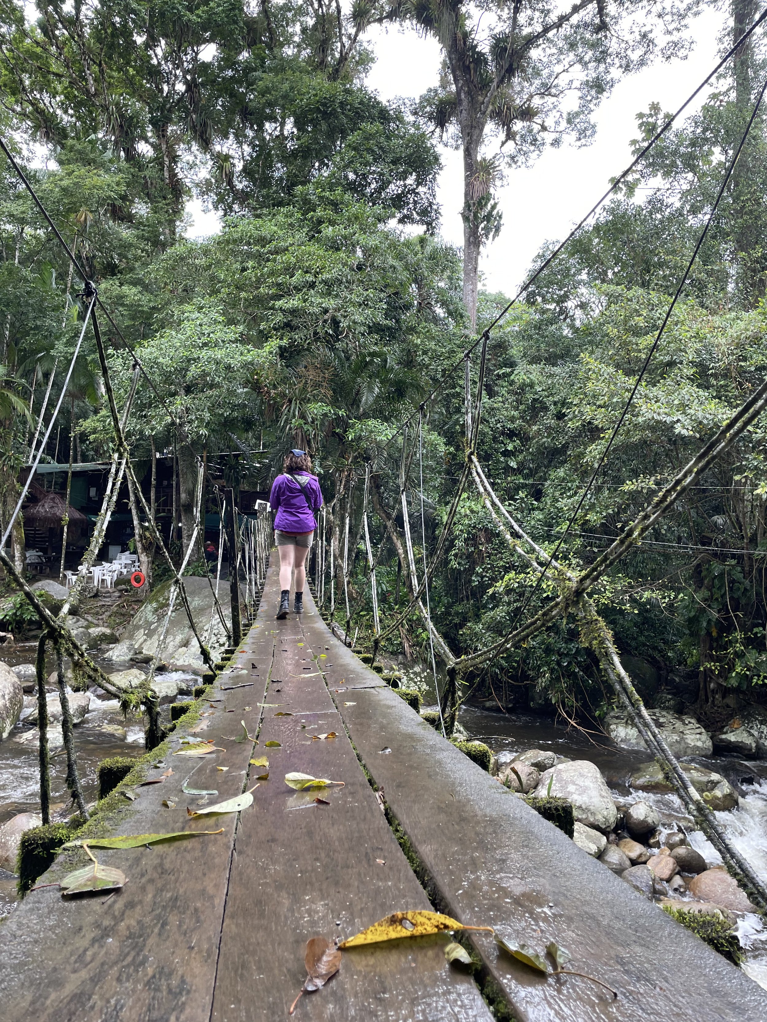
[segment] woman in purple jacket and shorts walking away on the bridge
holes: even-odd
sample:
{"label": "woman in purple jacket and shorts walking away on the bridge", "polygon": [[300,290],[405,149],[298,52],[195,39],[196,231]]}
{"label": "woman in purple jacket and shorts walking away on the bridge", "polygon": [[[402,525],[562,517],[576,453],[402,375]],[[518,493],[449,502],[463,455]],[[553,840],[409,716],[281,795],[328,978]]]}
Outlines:
{"label": "woman in purple jacket and shorts walking away on the bridge", "polygon": [[282,475],[272,483],[269,497],[274,519],[274,542],[279,551],[279,588],[277,620],[290,610],[290,575],[296,575],[294,612],[304,610],[306,559],[312,546],[314,512],[322,507],[322,491],[312,474],[312,460],[306,451],[290,451],[282,462]]}

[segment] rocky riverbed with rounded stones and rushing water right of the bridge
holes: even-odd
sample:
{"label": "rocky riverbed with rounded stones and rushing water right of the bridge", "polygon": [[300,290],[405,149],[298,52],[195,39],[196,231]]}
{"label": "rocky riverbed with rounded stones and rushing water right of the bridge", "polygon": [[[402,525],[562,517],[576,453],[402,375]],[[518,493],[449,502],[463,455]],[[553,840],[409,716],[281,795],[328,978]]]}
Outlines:
{"label": "rocky riverbed with rounded stones and rushing water right of the bridge", "polygon": [[[671,714],[671,717],[675,717]],[[659,905],[726,920],[746,953],[743,970],[767,988],[767,929],[722,868],[721,858],[684,811],[643,748],[625,731],[619,748],[603,735],[550,721],[464,707],[460,723],[495,754],[499,781],[514,791],[568,798],[574,840]],[[657,723],[661,723],[660,719]],[[714,754],[711,737],[691,718],[665,719],[697,749],[684,770],[717,820],[756,871],[767,879],[767,760]],[[623,728],[623,724],[621,724]]]}

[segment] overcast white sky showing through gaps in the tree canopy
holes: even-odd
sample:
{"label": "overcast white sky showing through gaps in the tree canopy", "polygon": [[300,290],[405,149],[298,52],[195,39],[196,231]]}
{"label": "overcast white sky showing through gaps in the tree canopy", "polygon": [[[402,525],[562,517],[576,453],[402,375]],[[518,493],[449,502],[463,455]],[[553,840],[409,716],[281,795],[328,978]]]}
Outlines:
{"label": "overcast white sky showing through gaps in the tree canopy", "polygon": [[[533,257],[544,241],[563,237],[593,205],[615,177],[631,160],[629,143],[637,135],[635,115],[658,101],[675,110],[706,78],[717,60],[717,36],[724,24],[721,11],[707,7],[692,24],[694,48],[686,60],[659,61],[625,79],[596,112],[596,136],[583,148],[563,145],[546,152],[527,170],[509,171],[498,195],[503,230],[485,251],[481,272],[484,286],[510,293],[523,282]],[[415,97],[435,85],[440,48],[412,30],[379,29],[368,35],[376,53],[367,84],[381,99]],[[459,210],[462,204],[460,153],[440,147],[443,170],[438,196],[442,205],[442,234],[462,243]],[[215,214],[190,203],[191,236],[218,229]]]}

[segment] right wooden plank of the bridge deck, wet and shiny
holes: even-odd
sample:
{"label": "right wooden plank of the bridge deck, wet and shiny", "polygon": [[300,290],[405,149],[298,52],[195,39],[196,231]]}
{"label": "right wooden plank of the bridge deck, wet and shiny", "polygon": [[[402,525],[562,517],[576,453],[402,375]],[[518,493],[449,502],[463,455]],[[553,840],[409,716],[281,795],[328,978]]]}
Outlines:
{"label": "right wooden plank of the bridge deck, wet and shiny", "polygon": [[[343,654],[336,650],[335,659]],[[336,676],[328,670],[326,678],[333,692]],[[394,692],[375,688],[356,692],[352,700],[333,698],[444,911],[540,949],[555,940],[573,955],[574,969],[620,993],[613,1001],[596,984],[575,977],[547,981],[491,938],[475,935],[475,946],[521,1022],[767,1018],[767,993],[760,986],[581,851]],[[391,754],[381,754],[382,748]]]}

